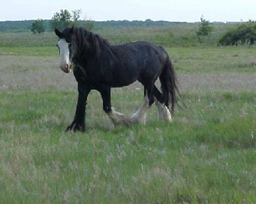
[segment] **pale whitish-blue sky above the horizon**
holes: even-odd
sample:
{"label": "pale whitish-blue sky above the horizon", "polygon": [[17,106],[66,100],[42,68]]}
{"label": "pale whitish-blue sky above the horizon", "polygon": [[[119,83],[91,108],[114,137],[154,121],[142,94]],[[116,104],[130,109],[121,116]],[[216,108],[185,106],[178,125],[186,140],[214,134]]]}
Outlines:
{"label": "pale whitish-blue sky above the horizon", "polygon": [[0,0],[0,21],[51,19],[81,9],[80,20],[210,22],[256,20],[256,0]]}

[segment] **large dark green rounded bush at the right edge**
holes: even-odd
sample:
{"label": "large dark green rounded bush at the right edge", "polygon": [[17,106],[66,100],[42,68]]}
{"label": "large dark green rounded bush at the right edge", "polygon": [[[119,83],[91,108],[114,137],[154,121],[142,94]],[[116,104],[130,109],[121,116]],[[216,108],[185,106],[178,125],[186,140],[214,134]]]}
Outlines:
{"label": "large dark green rounded bush at the right edge", "polygon": [[236,27],[230,28],[224,35],[222,35],[218,43],[221,45],[252,45],[256,41],[256,22],[248,21]]}

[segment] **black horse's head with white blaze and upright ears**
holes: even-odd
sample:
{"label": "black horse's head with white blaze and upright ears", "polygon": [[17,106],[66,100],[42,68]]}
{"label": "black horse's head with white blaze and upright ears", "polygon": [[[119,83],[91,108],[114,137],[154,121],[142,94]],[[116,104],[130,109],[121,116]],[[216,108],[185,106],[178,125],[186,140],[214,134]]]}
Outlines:
{"label": "black horse's head with white blaze and upright ears", "polygon": [[70,72],[70,64],[73,56],[72,35],[74,33],[74,26],[72,28],[65,28],[62,32],[55,28],[55,34],[59,37],[57,47],[60,54],[60,68],[65,73]]}

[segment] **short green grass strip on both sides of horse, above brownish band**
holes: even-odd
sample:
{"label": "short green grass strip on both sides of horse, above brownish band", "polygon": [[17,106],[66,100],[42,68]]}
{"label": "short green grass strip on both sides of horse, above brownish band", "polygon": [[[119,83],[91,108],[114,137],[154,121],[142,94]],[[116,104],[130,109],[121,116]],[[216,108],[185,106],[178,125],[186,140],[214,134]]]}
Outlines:
{"label": "short green grass strip on both sides of horse, above brownish band", "polygon": [[[181,73],[256,72],[256,47],[167,48],[175,69]],[[1,47],[0,56],[58,57],[51,47]],[[56,59],[57,61],[57,59]]]}

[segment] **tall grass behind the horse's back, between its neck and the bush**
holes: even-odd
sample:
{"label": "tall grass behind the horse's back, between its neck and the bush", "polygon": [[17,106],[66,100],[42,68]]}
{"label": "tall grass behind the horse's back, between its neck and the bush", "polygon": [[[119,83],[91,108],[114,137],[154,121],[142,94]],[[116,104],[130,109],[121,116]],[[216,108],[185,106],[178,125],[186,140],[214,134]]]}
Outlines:
{"label": "tall grass behind the horse's back, between its neck and the bush", "polygon": [[[207,45],[216,45],[218,38],[230,25],[212,25],[213,32],[209,37],[202,39]],[[151,28],[123,28],[105,29],[100,31],[102,36],[110,39],[114,44],[122,44],[135,40],[146,40],[157,45],[165,46],[196,46],[200,42],[196,36],[199,24],[187,23],[174,26],[151,27]]]}

